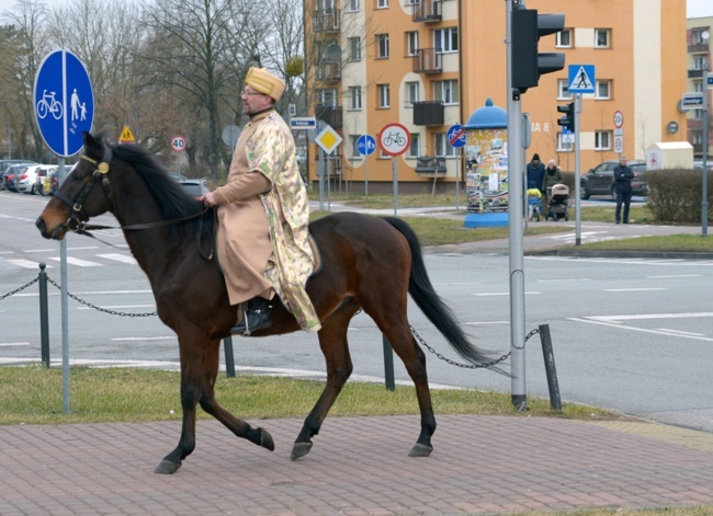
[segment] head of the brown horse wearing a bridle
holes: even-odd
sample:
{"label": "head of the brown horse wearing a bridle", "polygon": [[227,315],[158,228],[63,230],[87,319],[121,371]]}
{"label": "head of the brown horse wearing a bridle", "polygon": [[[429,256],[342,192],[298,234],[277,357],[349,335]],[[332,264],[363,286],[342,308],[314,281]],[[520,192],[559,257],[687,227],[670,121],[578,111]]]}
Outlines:
{"label": "head of the brown horse wearing a bridle", "polygon": [[107,174],[112,148],[101,136],[83,133],[83,138],[84,153],[35,221],[46,239],[61,240],[67,231],[111,209]]}

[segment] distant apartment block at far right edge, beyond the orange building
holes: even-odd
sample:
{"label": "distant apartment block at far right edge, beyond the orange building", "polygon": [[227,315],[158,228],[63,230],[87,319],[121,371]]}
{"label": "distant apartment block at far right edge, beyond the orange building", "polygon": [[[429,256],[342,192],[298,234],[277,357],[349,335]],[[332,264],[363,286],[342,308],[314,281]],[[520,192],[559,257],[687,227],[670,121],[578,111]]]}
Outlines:
{"label": "distant apartment block at far right edge, beyond the orange building", "polygon": [[[705,91],[708,95],[708,105],[711,105],[711,95],[705,89],[705,77],[711,70],[711,50],[710,50],[710,36],[711,27],[713,26],[713,18],[691,18],[687,21],[688,31],[686,34],[686,43],[688,45],[688,88],[687,92],[702,92]],[[710,110],[709,110],[710,113]],[[700,159],[703,150],[703,112],[701,110],[693,110],[688,112],[687,135],[688,141],[693,146],[693,154]],[[710,121],[710,116],[709,116]],[[711,149],[711,130],[709,122],[709,145]],[[709,158],[710,159],[710,158]]]}

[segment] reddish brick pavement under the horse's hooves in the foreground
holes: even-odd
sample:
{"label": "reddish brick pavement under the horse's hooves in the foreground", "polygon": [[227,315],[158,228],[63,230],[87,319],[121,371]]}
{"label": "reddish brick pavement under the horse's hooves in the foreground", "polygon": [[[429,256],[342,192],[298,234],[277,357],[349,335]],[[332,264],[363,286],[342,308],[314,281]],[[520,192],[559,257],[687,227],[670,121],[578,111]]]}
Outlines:
{"label": "reddish brick pavement under the horse's hooves in the foreground", "polygon": [[713,504],[713,435],[649,423],[440,415],[329,417],[290,460],[301,420],[260,422],[269,452],[214,420],[173,475],[154,468],[180,423],[0,427],[5,515],[464,515]]}

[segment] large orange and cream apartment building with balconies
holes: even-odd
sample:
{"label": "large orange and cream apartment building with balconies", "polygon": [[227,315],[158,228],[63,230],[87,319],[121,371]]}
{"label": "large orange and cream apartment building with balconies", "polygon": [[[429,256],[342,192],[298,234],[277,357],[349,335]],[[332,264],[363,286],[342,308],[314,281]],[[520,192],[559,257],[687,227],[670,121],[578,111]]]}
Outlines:
{"label": "large orange and cream apartment building with balconies", "polygon": [[[573,145],[557,125],[557,105],[573,98],[569,65],[596,70],[595,93],[582,95],[579,118],[581,173],[620,152],[644,159],[652,142],[687,139],[678,104],[690,69],[684,0],[530,0],[527,7],[565,14],[565,30],[542,37],[540,51],[562,51],[566,60],[564,70],[542,76],[522,95],[532,128],[525,161],[537,152],[574,171]],[[364,134],[377,139],[398,123],[411,138],[396,158],[401,192],[450,192],[463,181],[463,159],[446,133],[487,99],[507,107],[506,9],[502,0],[305,0],[310,113],[343,137],[329,170],[391,192],[392,157],[378,147],[365,157],[356,141]],[[316,146],[309,154],[314,181]]]}

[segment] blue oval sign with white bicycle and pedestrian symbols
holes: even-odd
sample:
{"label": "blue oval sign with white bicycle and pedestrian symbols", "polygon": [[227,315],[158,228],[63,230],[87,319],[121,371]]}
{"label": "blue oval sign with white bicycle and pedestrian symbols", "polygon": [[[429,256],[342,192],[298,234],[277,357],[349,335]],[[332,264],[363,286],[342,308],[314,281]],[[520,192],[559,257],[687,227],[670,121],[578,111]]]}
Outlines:
{"label": "blue oval sign with white bicycle and pedestrian symbols", "polygon": [[82,148],[94,122],[94,94],[84,65],[68,50],[47,55],[34,85],[35,119],[49,149],[64,158]]}

